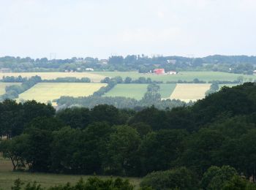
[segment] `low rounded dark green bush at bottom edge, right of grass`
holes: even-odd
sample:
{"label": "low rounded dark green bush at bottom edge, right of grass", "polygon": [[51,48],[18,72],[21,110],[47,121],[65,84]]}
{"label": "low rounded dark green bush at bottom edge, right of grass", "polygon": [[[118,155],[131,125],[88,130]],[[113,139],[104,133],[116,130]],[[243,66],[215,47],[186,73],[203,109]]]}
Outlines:
{"label": "low rounded dark green bush at bottom edge, right of grass", "polygon": [[173,170],[151,172],[140,183],[141,187],[152,187],[156,190],[164,189],[198,189],[195,175],[186,167]]}

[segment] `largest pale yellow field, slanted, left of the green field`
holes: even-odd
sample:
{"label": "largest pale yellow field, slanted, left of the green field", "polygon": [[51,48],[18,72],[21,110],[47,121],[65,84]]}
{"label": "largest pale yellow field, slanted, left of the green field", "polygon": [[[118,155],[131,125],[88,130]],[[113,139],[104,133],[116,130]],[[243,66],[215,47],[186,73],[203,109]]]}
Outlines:
{"label": "largest pale yellow field, slanted, left of the green field", "polygon": [[102,83],[37,83],[28,91],[19,95],[18,101],[36,100],[37,102],[52,102],[61,96],[89,96],[106,84]]}

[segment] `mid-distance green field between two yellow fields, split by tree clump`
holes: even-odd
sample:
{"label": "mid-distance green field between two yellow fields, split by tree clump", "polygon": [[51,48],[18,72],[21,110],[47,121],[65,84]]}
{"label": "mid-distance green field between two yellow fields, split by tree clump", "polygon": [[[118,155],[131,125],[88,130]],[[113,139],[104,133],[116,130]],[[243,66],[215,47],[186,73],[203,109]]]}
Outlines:
{"label": "mid-distance green field between two yellow fields, split by tree clump", "polygon": [[[104,96],[123,96],[127,98],[142,99],[147,91],[148,84],[118,84]],[[159,84],[162,98],[167,98],[172,94],[176,84]]]}

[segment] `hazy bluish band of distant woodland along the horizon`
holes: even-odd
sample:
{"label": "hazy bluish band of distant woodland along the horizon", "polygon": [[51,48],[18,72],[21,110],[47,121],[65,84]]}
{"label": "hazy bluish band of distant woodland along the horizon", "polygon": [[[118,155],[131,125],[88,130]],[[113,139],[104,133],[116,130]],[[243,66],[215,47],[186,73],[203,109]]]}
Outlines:
{"label": "hazy bluish band of distant woodland along the horizon", "polygon": [[86,68],[95,71],[139,71],[150,72],[156,68],[166,71],[220,71],[252,75],[255,70],[256,56],[206,56],[188,58],[181,56],[129,55],[99,58],[20,58],[5,56],[0,58],[0,67],[12,72],[84,72]]}

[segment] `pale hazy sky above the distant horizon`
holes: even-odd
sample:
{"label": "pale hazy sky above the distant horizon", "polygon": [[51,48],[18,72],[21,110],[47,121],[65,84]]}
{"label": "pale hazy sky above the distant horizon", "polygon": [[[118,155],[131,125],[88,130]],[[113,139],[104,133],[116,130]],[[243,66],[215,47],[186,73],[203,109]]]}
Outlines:
{"label": "pale hazy sky above the distant horizon", "polygon": [[0,56],[256,56],[256,0],[0,0]]}

